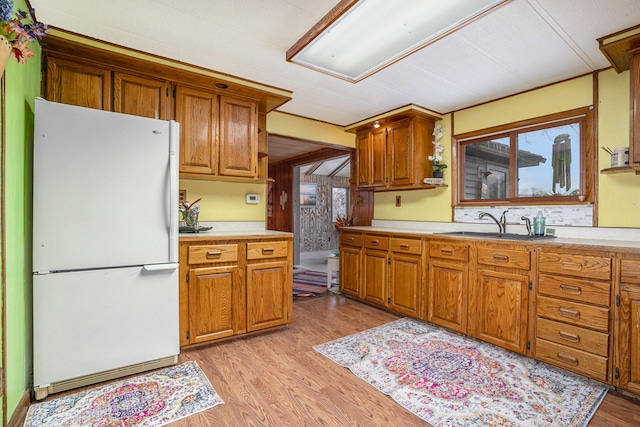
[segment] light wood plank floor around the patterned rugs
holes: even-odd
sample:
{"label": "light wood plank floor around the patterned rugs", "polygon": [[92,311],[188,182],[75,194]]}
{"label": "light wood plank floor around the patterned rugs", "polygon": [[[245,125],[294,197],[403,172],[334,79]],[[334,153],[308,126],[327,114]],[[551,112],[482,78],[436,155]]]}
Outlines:
{"label": "light wood plank floor around the patterned rugs", "polygon": [[[398,319],[339,295],[296,301],[284,329],[186,350],[224,400],[172,426],[428,426],[316,353],[317,344]],[[640,405],[607,395],[592,427],[640,425]]]}

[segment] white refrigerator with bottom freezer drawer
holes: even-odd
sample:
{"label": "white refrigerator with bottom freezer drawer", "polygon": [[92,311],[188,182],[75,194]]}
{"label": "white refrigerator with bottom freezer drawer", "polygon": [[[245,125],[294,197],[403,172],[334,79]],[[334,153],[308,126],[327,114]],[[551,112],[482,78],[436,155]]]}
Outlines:
{"label": "white refrigerator with bottom freezer drawer", "polygon": [[174,121],[36,99],[36,398],[177,361]]}

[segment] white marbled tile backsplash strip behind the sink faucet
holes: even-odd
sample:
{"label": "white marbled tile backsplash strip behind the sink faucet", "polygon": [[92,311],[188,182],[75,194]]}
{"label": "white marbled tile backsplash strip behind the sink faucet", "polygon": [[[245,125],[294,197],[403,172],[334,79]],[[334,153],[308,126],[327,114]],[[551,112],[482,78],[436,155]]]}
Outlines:
{"label": "white marbled tile backsplash strip behind the sink faucet", "polygon": [[507,224],[524,224],[520,218],[533,217],[542,211],[546,218],[546,225],[567,227],[592,227],[593,205],[541,205],[541,206],[458,206],[454,208],[454,222],[487,223],[490,219],[479,219],[480,212],[488,212],[500,218],[502,212],[507,211]]}

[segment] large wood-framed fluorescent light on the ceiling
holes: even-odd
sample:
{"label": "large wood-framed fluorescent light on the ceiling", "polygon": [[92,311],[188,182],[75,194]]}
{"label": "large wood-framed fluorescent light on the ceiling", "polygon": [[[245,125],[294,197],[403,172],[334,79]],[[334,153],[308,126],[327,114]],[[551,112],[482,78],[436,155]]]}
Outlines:
{"label": "large wood-framed fluorescent light on the ceiling", "polygon": [[342,0],[287,51],[357,82],[510,0]]}

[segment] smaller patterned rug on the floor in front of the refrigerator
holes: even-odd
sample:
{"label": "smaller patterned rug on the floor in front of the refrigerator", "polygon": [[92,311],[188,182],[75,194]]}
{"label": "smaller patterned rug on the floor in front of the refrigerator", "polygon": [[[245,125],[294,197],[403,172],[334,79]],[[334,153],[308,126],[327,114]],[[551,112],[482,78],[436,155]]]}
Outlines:
{"label": "smaller patterned rug on the floor in front of the refrigerator", "polygon": [[24,426],[156,427],[224,403],[196,362],[35,403]]}

